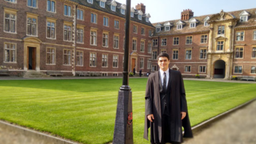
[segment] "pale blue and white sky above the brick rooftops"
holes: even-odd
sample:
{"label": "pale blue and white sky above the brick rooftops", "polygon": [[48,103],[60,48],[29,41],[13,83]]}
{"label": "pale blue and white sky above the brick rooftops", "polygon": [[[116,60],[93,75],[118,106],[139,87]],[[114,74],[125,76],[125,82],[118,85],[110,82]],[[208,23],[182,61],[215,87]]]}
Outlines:
{"label": "pale blue and white sky above the brick rooftops", "polygon": [[[116,0],[126,4],[127,0]],[[180,20],[183,9],[192,9],[193,16],[217,14],[223,9],[224,12],[233,12],[241,9],[252,9],[256,11],[255,0],[131,0],[131,7],[143,3],[145,13],[151,14],[151,23],[164,22],[168,20]]]}

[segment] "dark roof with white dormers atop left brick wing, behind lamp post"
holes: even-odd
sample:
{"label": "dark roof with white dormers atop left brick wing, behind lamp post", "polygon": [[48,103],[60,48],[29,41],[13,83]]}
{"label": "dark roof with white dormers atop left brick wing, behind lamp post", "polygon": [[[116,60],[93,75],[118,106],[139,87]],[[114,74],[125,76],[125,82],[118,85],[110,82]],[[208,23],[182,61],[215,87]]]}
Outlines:
{"label": "dark roof with white dormers atop left brick wing, behind lamp post", "polygon": [[[102,12],[106,12],[108,14],[113,14],[113,15],[125,18],[125,14],[121,14],[121,10],[120,10],[121,8],[119,8],[121,6],[121,3],[117,2],[117,1],[116,1],[116,4],[117,4],[116,12],[113,12],[111,10],[111,5],[108,5],[108,3],[111,2],[112,0],[107,0],[105,2],[105,8],[100,7],[100,1],[95,1],[95,0],[93,1],[93,4],[90,4],[89,2],[87,2],[87,0],[69,0],[69,1],[73,1],[73,2],[76,2],[77,4],[81,4],[81,5],[86,6],[86,7],[91,7],[93,9],[97,9],[97,10],[100,10]],[[135,9],[135,15],[134,15],[134,17],[131,17],[131,20],[135,21],[135,22],[142,23],[144,25],[148,25],[148,26],[153,27],[151,22],[146,22],[145,21],[145,17],[143,17],[142,20],[138,19],[138,17],[137,17],[137,9]]]}

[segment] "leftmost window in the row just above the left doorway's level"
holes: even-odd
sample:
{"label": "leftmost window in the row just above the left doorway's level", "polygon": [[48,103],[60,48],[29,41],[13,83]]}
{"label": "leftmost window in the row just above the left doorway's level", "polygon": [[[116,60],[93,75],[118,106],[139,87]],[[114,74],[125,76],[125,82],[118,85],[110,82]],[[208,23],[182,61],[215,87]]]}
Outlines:
{"label": "leftmost window in the row just above the left doorway's level", "polygon": [[16,33],[16,12],[4,13],[4,31],[8,33]]}

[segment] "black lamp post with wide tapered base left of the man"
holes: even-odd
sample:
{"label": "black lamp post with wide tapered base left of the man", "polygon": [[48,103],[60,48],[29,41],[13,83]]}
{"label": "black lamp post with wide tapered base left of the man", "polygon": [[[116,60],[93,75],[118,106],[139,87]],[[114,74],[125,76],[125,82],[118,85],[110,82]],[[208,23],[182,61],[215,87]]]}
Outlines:
{"label": "black lamp post with wide tapered base left of the man", "polygon": [[131,0],[127,0],[125,48],[124,48],[124,72],[123,85],[119,90],[119,99],[116,108],[116,122],[113,133],[113,144],[132,144],[132,91],[129,88],[128,62],[129,62],[129,21]]}

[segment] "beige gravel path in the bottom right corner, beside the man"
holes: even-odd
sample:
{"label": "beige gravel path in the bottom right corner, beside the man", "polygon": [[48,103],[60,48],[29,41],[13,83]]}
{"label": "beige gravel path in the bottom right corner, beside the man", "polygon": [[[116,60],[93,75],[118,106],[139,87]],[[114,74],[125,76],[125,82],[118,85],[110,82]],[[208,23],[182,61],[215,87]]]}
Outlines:
{"label": "beige gravel path in the bottom right corner, beside the man", "polygon": [[256,101],[212,123],[184,144],[256,144]]}

